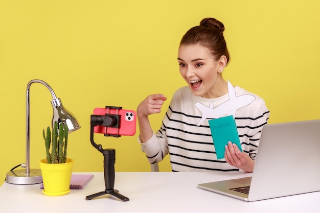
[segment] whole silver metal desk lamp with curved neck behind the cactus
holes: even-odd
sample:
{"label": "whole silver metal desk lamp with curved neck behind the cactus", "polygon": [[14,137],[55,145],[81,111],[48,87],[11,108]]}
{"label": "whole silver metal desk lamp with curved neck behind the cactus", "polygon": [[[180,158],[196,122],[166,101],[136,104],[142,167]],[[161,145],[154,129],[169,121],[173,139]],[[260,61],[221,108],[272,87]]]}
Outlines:
{"label": "whole silver metal desk lamp with curved neck behind the cactus", "polygon": [[77,120],[72,113],[68,112],[63,108],[61,101],[56,97],[53,89],[49,84],[42,80],[34,79],[31,80],[27,85],[26,92],[26,163],[22,164],[22,170],[12,170],[7,173],[6,181],[12,184],[27,185],[42,183],[42,176],[40,169],[30,169],[30,86],[33,83],[40,83],[47,87],[52,94],[52,107],[53,107],[53,117],[52,125],[55,121],[59,123],[64,123],[68,127],[68,133],[71,133],[80,128]]}

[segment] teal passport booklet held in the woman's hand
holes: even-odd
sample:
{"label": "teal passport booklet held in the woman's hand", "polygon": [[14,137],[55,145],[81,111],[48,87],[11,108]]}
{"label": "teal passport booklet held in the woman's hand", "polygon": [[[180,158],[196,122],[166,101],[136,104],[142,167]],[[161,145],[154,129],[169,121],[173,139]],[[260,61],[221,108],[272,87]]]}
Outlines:
{"label": "teal passport booklet held in the woman's hand", "polygon": [[217,159],[224,158],[224,147],[228,141],[236,144],[242,152],[236,122],[232,115],[210,120],[209,126]]}

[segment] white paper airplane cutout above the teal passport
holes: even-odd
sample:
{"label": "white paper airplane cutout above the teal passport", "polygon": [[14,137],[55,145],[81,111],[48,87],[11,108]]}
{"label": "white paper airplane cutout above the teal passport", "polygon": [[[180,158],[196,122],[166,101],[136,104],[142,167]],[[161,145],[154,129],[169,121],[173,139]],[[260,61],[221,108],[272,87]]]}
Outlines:
{"label": "white paper airplane cutout above the teal passport", "polygon": [[222,115],[233,115],[233,117],[235,117],[237,109],[245,107],[256,100],[256,97],[250,94],[243,94],[242,96],[236,97],[235,88],[229,81],[227,81],[227,85],[229,100],[220,104],[216,108],[213,108],[213,102],[210,103],[209,107],[199,102],[194,104],[202,112],[202,117],[197,126],[200,126],[200,124],[208,118],[218,119]]}

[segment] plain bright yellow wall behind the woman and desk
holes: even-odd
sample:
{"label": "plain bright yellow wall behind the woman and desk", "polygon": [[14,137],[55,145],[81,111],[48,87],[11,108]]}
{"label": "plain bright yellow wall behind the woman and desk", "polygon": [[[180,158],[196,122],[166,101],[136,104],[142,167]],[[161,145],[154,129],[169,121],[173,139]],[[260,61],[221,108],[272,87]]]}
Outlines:
{"label": "plain bright yellow wall behind the woman and desk", "polygon": [[[82,128],[69,136],[74,172],[103,171],[89,141],[90,114],[106,105],[136,109],[151,93],[168,97],[179,75],[180,38],[204,17],[225,25],[231,62],[224,78],[264,98],[269,123],[320,119],[319,1],[0,1],[0,178],[25,162],[26,87],[47,82]],[[31,168],[45,157],[51,93],[31,90]],[[117,152],[116,171],[150,171],[136,135],[95,135]],[[303,141],[302,148],[303,148]],[[308,149],[308,148],[304,148]],[[312,148],[310,148],[312,149]],[[270,157],[272,154],[270,153]],[[301,156],[297,156],[301,157]],[[169,157],[159,164],[170,171]]]}

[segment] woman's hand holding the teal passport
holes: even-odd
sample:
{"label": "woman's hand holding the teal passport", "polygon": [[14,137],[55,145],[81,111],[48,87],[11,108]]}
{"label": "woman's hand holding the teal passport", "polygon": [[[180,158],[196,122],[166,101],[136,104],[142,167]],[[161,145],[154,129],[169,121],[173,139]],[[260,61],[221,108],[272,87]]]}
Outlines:
{"label": "woman's hand holding the teal passport", "polygon": [[249,157],[249,155],[241,152],[236,144],[232,144],[230,141],[225,146],[224,158],[227,163],[241,169],[245,172],[253,172],[255,161]]}

